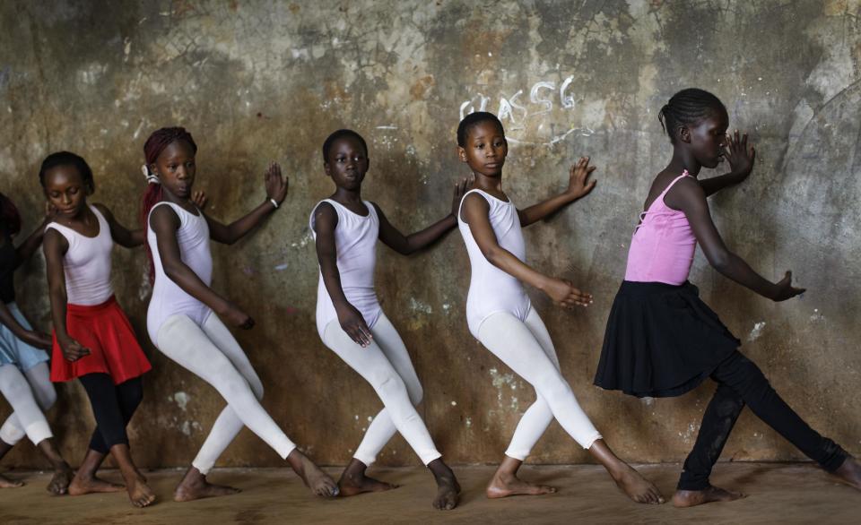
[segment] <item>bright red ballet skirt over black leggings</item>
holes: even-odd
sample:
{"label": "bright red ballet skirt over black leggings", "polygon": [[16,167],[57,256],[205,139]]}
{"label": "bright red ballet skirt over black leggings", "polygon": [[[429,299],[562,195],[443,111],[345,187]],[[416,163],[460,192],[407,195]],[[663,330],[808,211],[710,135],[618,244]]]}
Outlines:
{"label": "bright red ballet skirt over black leggings", "polygon": [[90,349],[90,355],[67,361],[55,332],[51,381],[70,381],[81,375],[101,373],[109,374],[114,384],[119,384],[152,369],[115,297],[100,305],[67,305],[65,313],[65,330],[81,346]]}

